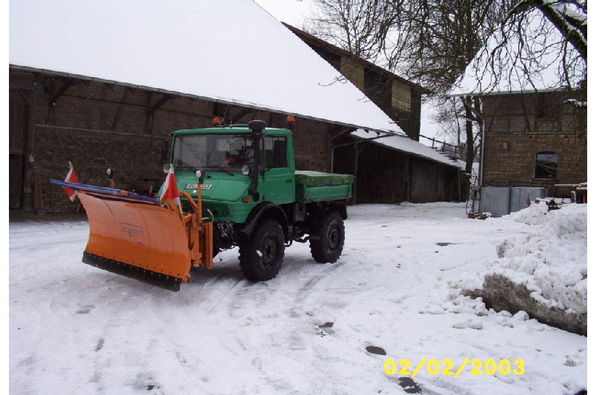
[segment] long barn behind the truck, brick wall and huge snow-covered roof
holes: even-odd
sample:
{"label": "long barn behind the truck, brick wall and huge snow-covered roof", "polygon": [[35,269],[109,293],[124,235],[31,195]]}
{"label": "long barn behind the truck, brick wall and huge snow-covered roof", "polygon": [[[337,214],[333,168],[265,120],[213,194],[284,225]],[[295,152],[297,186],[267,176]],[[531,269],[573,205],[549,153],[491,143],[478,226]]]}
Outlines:
{"label": "long barn behind the truck, brick wall and huge snow-covered roof", "polygon": [[81,182],[107,185],[112,168],[118,187],[152,193],[169,134],[216,116],[297,116],[298,169],[337,169],[335,138],[358,129],[405,136],[248,0],[25,0],[10,3],[9,39],[10,209],[74,211],[48,183],[70,161]]}

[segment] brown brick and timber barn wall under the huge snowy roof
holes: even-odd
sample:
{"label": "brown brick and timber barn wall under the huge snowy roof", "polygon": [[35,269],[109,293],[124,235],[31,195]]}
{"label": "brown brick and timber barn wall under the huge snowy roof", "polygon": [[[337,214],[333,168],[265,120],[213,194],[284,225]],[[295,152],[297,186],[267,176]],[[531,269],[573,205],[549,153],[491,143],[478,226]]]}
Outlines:
{"label": "brown brick and timber barn wall under the huge snowy roof", "polygon": [[[76,210],[77,204],[48,181],[63,180],[69,161],[80,182],[109,186],[105,171],[110,167],[116,186],[133,190],[147,181],[160,184],[165,178],[162,154],[172,131],[209,127],[215,116],[227,123],[262,119],[268,127],[286,127],[287,114],[139,87],[18,70],[10,70],[9,81],[11,107],[23,109],[11,111],[15,114],[10,119],[11,141],[24,145],[21,140],[29,140],[29,147],[11,147],[10,156],[11,175],[16,179],[23,158],[28,158],[23,209],[32,209],[34,180],[39,178],[47,211]],[[19,114],[32,114],[31,122]],[[299,169],[330,169],[328,123],[298,118],[294,147]],[[14,200],[18,200],[21,193],[15,189],[19,193]],[[11,203],[14,206],[19,204]]]}

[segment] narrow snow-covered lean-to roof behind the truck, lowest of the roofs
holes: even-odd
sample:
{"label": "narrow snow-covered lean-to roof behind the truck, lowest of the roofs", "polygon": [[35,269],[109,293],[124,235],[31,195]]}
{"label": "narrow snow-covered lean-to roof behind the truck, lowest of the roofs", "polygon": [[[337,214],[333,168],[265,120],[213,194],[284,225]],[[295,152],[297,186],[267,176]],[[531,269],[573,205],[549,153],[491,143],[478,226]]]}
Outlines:
{"label": "narrow snow-covered lean-to roof behind the truck, lowest of the roofs", "polygon": [[374,131],[366,131],[362,129],[352,132],[352,136],[371,140],[375,144],[383,145],[385,147],[396,149],[405,153],[410,153],[412,155],[421,156],[421,158],[434,160],[436,162],[464,169],[464,165],[460,162],[455,162],[447,156],[438,153],[434,149],[406,136],[378,134]]}

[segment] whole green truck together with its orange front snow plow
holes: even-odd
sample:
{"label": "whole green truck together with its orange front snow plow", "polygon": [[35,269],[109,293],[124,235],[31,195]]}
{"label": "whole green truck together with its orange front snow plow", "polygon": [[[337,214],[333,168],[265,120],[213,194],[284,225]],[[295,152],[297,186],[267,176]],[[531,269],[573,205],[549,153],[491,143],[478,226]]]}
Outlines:
{"label": "whole green truck together with its orange front snow plow", "polygon": [[291,129],[254,120],[173,132],[159,200],[50,180],[76,191],[88,215],[83,262],[172,291],[191,268],[211,269],[234,247],[251,281],[275,277],[293,242],[309,241],[316,261],[335,262],[354,177],[296,171]]}

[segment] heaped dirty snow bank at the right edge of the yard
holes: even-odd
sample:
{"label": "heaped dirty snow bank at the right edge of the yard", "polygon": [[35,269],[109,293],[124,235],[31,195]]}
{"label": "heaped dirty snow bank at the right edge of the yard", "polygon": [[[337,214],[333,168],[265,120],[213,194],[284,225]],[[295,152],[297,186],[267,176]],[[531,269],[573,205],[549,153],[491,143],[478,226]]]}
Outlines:
{"label": "heaped dirty snow bank at the right edge of the yard", "polygon": [[548,211],[546,204],[533,203],[487,221],[520,222],[529,225],[530,232],[505,239],[497,247],[498,259],[463,287],[474,289],[472,294],[483,296],[491,306],[525,310],[540,321],[567,330],[572,330],[575,322],[567,326],[559,321],[578,320],[578,329],[572,331],[582,332],[583,327],[585,334],[586,204],[567,204]]}

